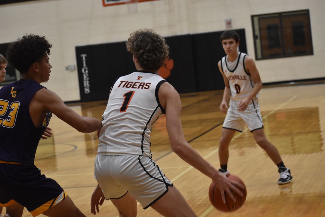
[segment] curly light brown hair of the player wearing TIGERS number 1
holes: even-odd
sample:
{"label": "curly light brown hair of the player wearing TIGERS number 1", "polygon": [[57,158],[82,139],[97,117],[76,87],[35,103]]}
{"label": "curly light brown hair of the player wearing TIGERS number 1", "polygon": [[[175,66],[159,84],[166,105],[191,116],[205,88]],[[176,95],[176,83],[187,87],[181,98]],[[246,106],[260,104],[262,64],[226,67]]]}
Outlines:
{"label": "curly light brown hair of the player wearing TIGERS number 1", "polygon": [[130,34],[126,48],[145,70],[159,70],[169,57],[165,39],[152,29],[139,29]]}

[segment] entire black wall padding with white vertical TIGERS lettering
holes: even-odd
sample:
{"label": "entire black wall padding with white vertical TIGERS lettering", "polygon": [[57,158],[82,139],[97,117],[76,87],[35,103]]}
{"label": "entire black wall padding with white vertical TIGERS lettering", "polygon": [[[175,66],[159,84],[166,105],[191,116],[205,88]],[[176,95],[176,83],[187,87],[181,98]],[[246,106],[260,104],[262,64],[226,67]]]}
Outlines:
{"label": "entire black wall padding with white vertical TIGERS lettering", "polygon": [[[240,51],[247,53],[245,30],[240,36]],[[223,89],[218,61],[225,55],[221,32],[166,37],[174,67],[166,80],[179,93]],[[82,54],[87,56],[85,60]],[[77,68],[82,102],[107,100],[112,83],[120,76],[136,71],[132,54],[125,42],[76,47]],[[85,86],[89,87],[85,87]]]}

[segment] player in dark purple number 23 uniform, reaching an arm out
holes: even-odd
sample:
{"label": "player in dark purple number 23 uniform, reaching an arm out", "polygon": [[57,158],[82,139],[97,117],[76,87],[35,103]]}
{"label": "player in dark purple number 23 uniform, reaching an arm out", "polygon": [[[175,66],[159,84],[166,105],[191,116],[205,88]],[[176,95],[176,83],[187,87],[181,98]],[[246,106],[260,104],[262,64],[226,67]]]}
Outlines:
{"label": "player in dark purple number 23 uniform, reaching an arm out", "polygon": [[61,186],[34,165],[39,139],[52,113],[80,132],[101,127],[100,120],[78,115],[40,85],[51,73],[51,47],[44,36],[30,34],[7,50],[9,64],[22,77],[0,89],[0,205],[7,207],[11,217],[21,216],[16,209],[20,205],[32,216],[85,217]]}

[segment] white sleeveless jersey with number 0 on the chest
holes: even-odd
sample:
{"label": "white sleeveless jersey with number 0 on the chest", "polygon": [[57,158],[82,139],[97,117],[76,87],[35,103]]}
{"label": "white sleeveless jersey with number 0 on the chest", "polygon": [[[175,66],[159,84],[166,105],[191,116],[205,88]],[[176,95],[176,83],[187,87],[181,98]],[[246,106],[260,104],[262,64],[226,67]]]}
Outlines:
{"label": "white sleeveless jersey with number 0 on the chest", "polygon": [[[231,91],[230,99],[233,101],[243,100],[250,94],[255,85],[245,68],[244,61],[246,56],[247,54],[240,52],[237,59],[233,62],[227,60],[228,55],[221,59],[221,69],[229,81]],[[257,97],[258,93],[255,98]]]}

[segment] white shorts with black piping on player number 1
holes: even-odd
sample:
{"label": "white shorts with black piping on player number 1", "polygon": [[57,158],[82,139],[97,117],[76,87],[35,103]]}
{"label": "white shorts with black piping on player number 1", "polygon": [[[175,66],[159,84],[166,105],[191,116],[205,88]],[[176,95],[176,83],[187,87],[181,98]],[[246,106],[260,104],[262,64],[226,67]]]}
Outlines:
{"label": "white shorts with black piping on player number 1", "polygon": [[173,186],[150,157],[139,155],[97,155],[95,179],[105,199],[118,199],[129,192],[143,209],[162,197],[168,186]]}

